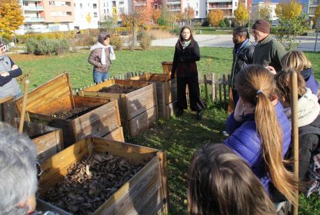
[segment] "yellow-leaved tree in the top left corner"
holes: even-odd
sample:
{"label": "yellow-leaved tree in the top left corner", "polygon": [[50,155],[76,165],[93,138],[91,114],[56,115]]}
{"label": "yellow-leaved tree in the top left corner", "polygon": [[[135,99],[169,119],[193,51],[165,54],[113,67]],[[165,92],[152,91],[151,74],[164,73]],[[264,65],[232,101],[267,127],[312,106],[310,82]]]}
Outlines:
{"label": "yellow-leaved tree in the top left corner", "polygon": [[0,37],[10,38],[24,22],[17,0],[0,0]]}

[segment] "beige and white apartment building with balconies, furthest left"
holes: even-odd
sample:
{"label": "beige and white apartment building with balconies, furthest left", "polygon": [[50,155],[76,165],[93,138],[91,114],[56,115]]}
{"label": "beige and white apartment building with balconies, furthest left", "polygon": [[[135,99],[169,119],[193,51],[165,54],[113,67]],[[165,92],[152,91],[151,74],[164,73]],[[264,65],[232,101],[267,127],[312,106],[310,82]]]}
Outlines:
{"label": "beige and white apartment building with balconies, furthest left", "polygon": [[25,17],[17,33],[73,30],[73,0],[19,0]]}

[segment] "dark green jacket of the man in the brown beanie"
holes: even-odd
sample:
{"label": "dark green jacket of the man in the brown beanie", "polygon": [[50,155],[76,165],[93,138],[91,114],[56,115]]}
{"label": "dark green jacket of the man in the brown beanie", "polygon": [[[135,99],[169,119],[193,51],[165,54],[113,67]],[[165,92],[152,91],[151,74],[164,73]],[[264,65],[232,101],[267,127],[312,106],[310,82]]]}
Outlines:
{"label": "dark green jacket of the man in the brown beanie", "polygon": [[268,35],[262,42],[258,42],[253,53],[253,63],[263,67],[271,66],[275,71],[281,71],[280,60],[287,51],[285,46]]}

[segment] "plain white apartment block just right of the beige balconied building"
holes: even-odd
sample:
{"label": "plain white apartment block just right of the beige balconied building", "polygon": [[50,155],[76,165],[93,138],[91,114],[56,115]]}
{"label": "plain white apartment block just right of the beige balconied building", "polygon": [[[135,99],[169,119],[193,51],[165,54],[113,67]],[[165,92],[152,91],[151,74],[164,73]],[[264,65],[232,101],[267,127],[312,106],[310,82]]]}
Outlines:
{"label": "plain white apartment block just right of the beige balconied building", "polygon": [[98,28],[99,0],[74,0],[74,28]]}

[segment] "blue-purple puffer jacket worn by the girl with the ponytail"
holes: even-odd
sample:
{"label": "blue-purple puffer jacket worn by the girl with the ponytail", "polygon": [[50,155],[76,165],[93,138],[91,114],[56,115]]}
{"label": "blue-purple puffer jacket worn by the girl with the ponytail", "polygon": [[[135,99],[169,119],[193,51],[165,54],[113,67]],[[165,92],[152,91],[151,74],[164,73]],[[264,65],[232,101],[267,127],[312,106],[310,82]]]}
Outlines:
{"label": "blue-purple puffer jacket worn by the girl with the ponytail", "polygon": [[[284,157],[291,141],[291,125],[283,112],[283,107],[280,102],[275,105],[275,112],[283,132],[282,157]],[[266,192],[269,193],[268,184],[271,178],[264,167],[261,141],[255,126],[255,115],[248,114],[245,116],[245,121],[239,123],[234,119],[234,112],[232,112],[227,118],[227,132],[230,134],[230,137],[225,140],[224,144],[246,160],[253,170],[253,173],[257,175],[257,178],[259,178],[260,182],[264,185]]]}

